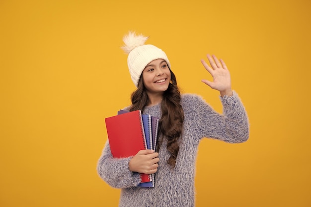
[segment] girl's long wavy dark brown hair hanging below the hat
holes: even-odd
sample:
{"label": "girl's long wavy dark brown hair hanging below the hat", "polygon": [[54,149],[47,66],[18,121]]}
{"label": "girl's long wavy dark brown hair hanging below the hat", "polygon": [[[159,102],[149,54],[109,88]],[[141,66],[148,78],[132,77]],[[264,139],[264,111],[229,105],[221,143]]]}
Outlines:
{"label": "girl's long wavy dark brown hair hanging below the hat", "polygon": [[[181,96],[177,87],[176,76],[171,69],[169,71],[171,80],[167,90],[163,93],[161,102],[162,117],[159,120],[159,139],[156,148],[159,149],[163,137],[167,138],[166,149],[170,153],[167,163],[174,168],[179,151],[178,139],[182,134],[184,113],[180,105]],[[131,100],[130,111],[143,111],[148,104],[149,98],[144,86],[143,75],[139,79],[137,89],[132,93]]]}

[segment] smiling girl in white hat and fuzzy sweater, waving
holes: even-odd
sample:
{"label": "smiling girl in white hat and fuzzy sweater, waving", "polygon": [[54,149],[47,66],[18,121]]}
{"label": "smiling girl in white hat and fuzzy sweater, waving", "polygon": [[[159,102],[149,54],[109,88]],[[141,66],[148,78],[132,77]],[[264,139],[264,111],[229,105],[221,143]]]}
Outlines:
{"label": "smiling girl in white hat and fuzzy sweater, waving", "polygon": [[[198,144],[202,138],[238,143],[248,139],[249,124],[238,95],[231,88],[224,61],[207,55],[201,60],[213,81],[202,80],[220,92],[223,114],[215,112],[200,96],[181,95],[166,54],[148,37],[130,32],[123,38],[128,67],[136,91],[129,111],[141,110],[160,118],[157,152],[141,150],[133,157],[113,158],[109,142],[98,161],[99,176],[121,188],[119,207],[193,207]],[[137,187],[139,173],[155,174],[155,187]]]}

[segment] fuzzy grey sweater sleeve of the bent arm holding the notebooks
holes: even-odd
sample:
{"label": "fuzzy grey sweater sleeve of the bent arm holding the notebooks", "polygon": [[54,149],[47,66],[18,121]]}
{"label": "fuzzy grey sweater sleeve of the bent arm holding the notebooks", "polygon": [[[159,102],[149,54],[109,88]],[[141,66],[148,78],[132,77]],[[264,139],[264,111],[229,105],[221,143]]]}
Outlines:
{"label": "fuzzy grey sweater sleeve of the bent arm holding the notebooks", "polygon": [[111,187],[128,188],[137,186],[141,182],[141,178],[139,173],[133,173],[129,170],[131,158],[114,158],[107,140],[97,163],[97,172]]}

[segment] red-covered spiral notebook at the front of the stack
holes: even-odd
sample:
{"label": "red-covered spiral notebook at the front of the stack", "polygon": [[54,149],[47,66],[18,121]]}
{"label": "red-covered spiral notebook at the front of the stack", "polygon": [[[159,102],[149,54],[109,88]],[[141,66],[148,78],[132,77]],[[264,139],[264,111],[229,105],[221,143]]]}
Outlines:
{"label": "red-covered spiral notebook at the front of the stack", "polygon": [[[113,157],[130,157],[146,149],[141,111],[132,111],[105,119],[110,150]],[[141,174],[142,183],[150,182],[150,176]]]}

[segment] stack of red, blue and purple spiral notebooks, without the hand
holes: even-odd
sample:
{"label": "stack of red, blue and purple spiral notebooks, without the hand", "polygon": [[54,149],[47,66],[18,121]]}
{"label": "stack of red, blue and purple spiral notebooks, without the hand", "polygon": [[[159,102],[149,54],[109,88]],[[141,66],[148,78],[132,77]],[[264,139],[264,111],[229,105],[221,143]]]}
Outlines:
{"label": "stack of red, blue and purple spiral notebooks, without the hand", "polygon": [[[142,149],[156,150],[159,119],[137,111],[118,111],[117,116],[105,119],[109,145],[113,157],[130,157]],[[139,187],[155,187],[154,174],[140,174]]]}

